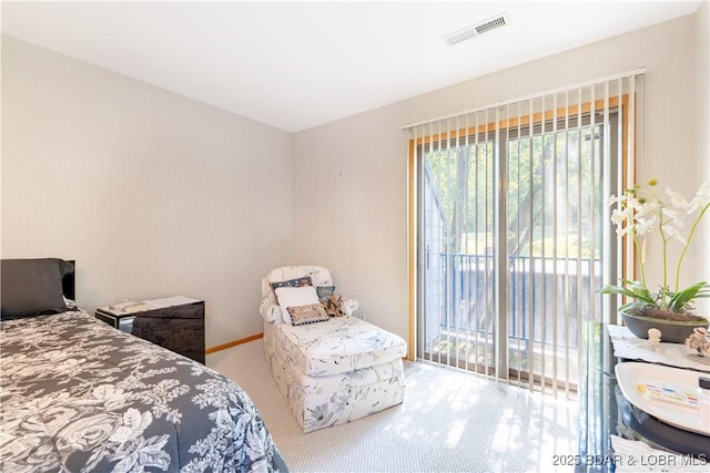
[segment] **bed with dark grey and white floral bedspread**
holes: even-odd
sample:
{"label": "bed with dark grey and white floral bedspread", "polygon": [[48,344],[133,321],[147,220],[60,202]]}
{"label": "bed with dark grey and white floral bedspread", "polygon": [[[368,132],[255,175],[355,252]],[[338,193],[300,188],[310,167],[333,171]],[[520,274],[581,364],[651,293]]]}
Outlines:
{"label": "bed with dark grey and white floral bedspread", "polygon": [[67,299],[73,264],[2,260],[1,277],[2,471],[287,471],[237,384]]}

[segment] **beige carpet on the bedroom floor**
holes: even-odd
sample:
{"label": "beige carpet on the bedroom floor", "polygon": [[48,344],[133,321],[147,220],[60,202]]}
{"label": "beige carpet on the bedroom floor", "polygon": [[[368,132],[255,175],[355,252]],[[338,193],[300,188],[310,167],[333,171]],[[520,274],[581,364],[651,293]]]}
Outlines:
{"label": "beige carpet on the bedroom floor", "polygon": [[304,434],[262,340],[207,356],[253,399],[292,472],[552,472],[575,454],[577,403],[430,363],[406,363],[403,404]]}

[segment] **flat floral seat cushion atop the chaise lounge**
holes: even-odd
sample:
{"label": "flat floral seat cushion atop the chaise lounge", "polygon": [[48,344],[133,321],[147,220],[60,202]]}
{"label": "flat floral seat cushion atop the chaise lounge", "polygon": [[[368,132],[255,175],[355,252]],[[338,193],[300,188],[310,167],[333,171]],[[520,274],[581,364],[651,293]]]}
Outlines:
{"label": "flat floral seat cushion atop the chaise lounge", "polygon": [[402,337],[357,317],[334,317],[297,327],[283,323],[275,328],[274,336],[301,370],[312,377],[388,363],[403,358],[407,350]]}

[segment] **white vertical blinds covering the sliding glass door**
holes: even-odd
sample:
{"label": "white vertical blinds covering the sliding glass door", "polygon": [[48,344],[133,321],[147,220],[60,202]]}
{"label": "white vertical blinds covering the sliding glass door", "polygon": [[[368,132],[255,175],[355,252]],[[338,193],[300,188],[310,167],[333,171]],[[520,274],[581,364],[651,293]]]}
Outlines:
{"label": "white vertical blinds covering the sliding glass door", "polygon": [[406,125],[416,356],[569,394],[621,275],[643,70]]}

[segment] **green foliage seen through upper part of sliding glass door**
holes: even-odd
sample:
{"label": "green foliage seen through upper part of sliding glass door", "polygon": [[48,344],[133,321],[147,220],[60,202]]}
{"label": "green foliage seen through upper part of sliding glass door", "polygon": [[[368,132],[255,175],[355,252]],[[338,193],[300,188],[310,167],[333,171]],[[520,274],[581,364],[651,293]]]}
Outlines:
{"label": "green foliage seen through upper part of sliding glass door", "polygon": [[[598,132],[598,126],[596,127]],[[589,126],[551,132],[551,123],[530,137],[526,130],[503,131],[478,141],[435,143],[425,150],[425,172],[430,178],[448,253],[483,251],[490,245],[470,245],[470,234],[495,230],[495,169],[497,153],[505,153],[510,256],[595,258],[601,229],[586,226],[600,218],[599,140],[587,140]],[[523,136],[516,137],[517,133]],[[488,138],[486,141],[486,138]],[[499,148],[496,148],[499,146]],[[600,227],[600,226],[598,226]],[[578,240],[575,241],[574,239]]]}

